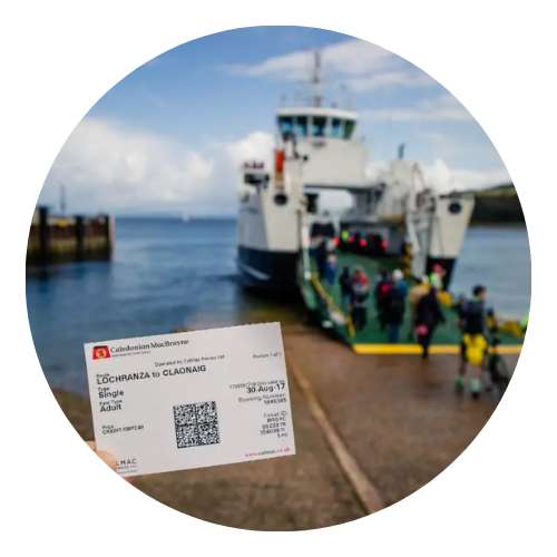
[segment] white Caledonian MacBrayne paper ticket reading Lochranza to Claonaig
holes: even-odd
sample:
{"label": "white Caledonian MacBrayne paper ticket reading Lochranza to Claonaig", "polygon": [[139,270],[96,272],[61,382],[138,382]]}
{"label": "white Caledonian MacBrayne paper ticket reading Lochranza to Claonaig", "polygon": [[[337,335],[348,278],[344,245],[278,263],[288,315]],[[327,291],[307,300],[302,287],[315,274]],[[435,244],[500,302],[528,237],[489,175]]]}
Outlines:
{"label": "white Caledonian MacBrayne paper ticket reading Lochranza to Claonaig", "polygon": [[278,323],[85,344],[95,441],[121,476],[295,455]]}

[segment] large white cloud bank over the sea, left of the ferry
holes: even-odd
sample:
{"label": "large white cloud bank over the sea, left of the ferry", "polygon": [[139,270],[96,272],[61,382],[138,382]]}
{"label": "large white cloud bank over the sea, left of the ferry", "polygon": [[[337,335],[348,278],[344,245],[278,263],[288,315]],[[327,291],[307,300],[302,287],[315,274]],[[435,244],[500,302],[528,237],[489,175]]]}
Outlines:
{"label": "large white cloud bank over the sea, left of the ferry", "polygon": [[244,158],[271,156],[271,134],[193,149],[178,140],[86,118],[68,138],[40,202],[57,205],[65,185],[72,213],[234,213]]}

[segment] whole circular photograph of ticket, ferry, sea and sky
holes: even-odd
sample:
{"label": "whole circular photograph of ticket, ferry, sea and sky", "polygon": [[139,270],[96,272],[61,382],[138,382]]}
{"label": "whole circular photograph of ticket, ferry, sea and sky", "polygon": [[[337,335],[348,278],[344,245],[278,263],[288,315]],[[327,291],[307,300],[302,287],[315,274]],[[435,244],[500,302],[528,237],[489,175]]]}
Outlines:
{"label": "whole circular photograph of ticket, ferry, sea and sky", "polygon": [[27,251],[37,353],[84,442],[130,489],[256,530],[364,517],[443,471],[512,388],[529,299],[480,125],[409,61],[303,27],[117,84]]}

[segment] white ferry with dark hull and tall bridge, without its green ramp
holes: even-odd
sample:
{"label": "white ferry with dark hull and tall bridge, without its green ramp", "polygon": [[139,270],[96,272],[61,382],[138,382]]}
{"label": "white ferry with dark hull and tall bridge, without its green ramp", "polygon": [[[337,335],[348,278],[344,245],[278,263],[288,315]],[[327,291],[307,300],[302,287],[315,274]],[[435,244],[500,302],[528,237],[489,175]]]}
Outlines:
{"label": "white ferry with dark hull and tall bridge, without its green ramp", "polygon": [[[306,106],[276,113],[273,167],[242,166],[237,265],[243,284],[291,293],[309,280],[312,238],[329,231],[340,251],[392,257],[421,277],[436,265],[451,280],[473,208],[473,196],[436,192],[403,147],[389,169],[367,175],[368,154],[355,110],[325,106],[321,58],[315,52],[312,96]],[[324,190],[344,190],[352,206],[338,223],[320,213]]]}

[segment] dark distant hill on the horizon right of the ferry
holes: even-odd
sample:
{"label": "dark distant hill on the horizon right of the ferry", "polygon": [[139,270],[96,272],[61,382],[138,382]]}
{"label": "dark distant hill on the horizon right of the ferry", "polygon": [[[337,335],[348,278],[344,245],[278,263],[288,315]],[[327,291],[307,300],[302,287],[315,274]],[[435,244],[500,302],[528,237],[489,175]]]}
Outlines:
{"label": "dark distant hill on the horizon right of the ferry", "polygon": [[476,198],[472,224],[525,224],[522,207],[512,184],[471,190]]}

